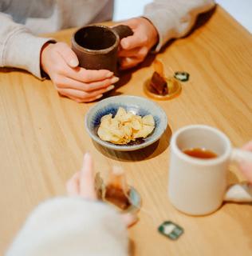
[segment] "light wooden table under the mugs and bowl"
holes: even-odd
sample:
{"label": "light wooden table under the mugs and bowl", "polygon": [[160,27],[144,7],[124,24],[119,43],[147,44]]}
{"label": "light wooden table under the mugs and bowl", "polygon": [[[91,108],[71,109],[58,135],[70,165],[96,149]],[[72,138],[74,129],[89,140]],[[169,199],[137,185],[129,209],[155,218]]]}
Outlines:
{"label": "light wooden table under the mugs and bowl", "polygon": [[[69,42],[73,30],[53,34]],[[175,210],[167,198],[169,139],[179,127],[202,123],[225,132],[234,146],[252,138],[252,36],[220,7],[187,38],[158,54],[169,72],[186,70],[179,98],[157,102],[169,127],[154,146],[134,153],[108,151],[93,144],[84,116],[95,103],[61,98],[52,83],[20,70],[0,74],[0,254],[6,250],[30,211],[39,202],[65,194],[65,182],[89,150],[96,170],[120,165],[144,200],[140,222],[129,230],[132,255],[251,255],[252,207],[228,203],[215,214],[191,217]],[[145,79],[152,74],[148,58],[128,71],[116,94],[146,97]],[[230,167],[230,182],[243,180]],[[157,232],[171,220],[185,233],[172,242]]]}

